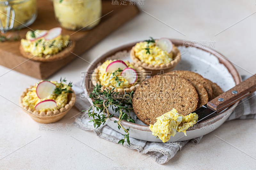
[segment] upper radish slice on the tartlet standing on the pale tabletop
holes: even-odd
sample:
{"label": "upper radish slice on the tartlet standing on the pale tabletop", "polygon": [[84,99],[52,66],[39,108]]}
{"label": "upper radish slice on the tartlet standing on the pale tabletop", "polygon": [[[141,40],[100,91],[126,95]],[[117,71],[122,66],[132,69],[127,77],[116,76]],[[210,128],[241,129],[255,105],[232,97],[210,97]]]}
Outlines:
{"label": "upper radish slice on the tartlet standing on the pale tabletop", "polygon": [[36,87],[36,95],[38,98],[46,98],[50,96],[56,88],[56,85],[50,81],[42,81]]}

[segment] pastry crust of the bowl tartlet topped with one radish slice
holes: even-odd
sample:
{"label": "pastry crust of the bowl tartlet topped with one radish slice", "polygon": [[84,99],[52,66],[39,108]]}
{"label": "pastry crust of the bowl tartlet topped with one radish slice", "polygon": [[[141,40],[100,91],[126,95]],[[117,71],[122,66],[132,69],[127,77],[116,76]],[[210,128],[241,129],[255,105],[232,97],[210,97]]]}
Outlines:
{"label": "pastry crust of the bowl tartlet topped with one radish slice", "polygon": [[[180,55],[180,50],[173,44],[173,59],[166,63],[166,64],[161,64],[161,65],[152,65],[152,64],[147,64],[144,62],[141,62],[139,58],[137,58],[135,56],[135,51],[134,51],[134,46],[132,47],[132,50],[130,52],[130,57],[132,59],[132,61],[136,64],[138,64],[139,66],[143,67],[151,76],[162,73],[161,70],[164,71],[164,73],[172,71],[172,68],[175,67],[181,59],[181,55]],[[150,73],[152,72],[152,73]]]}

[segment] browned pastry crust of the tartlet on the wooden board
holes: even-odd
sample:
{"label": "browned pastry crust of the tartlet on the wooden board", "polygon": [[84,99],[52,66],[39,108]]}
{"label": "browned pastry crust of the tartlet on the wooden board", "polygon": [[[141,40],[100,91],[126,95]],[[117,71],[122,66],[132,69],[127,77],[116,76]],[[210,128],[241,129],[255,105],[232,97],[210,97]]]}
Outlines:
{"label": "browned pastry crust of the tartlet on the wooden board", "polygon": [[23,57],[34,60],[34,61],[40,61],[40,62],[52,62],[52,61],[57,61],[63,58],[66,58],[70,55],[70,52],[73,52],[76,46],[76,42],[72,41],[72,45],[63,48],[61,51],[59,51],[57,54],[53,54],[50,55],[49,58],[45,58],[47,55],[43,55],[43,56],[35,56],[34,54],[30,53],[30,52],[26,52],[24,51],[22,45],[20,44],[20,53]]}

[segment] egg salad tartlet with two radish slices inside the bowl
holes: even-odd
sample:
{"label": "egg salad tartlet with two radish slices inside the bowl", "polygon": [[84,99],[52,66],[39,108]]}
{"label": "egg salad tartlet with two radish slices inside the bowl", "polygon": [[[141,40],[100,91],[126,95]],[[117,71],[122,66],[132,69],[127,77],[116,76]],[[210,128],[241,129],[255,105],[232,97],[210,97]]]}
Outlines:
{"label": "egg salad tartlet with two radish slices inside the bowl", "polygon": [[140,81],[145,80],[145,70],[138,64],[123,60],[107,60],[92,73],[92,84],[101,89],[113,89],[115,92],[131,92]]}

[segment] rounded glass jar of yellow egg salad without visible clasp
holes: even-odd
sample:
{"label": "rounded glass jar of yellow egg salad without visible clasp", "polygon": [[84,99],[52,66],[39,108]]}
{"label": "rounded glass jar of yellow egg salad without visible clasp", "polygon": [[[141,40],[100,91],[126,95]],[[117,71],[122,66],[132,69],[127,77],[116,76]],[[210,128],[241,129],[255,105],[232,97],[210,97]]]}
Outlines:
{"label": "rounded glass jar of yellow egg salad without visible clasp", "polygon": [[89,30],[100,22],[101,0],[54,0],[53,6],[63,28]]}

